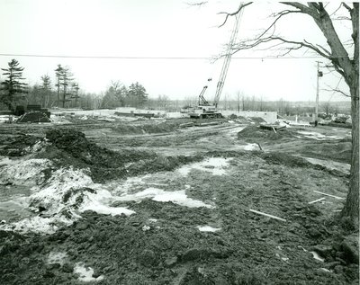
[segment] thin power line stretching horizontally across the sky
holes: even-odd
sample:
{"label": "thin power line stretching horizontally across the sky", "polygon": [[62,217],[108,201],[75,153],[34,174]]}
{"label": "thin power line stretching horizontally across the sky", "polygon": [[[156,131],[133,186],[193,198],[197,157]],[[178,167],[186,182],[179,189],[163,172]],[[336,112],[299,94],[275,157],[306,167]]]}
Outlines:
{"label": "thin power line stretching horizontally across the sky", "polygon": [[[88,58],[88,59],[215,59],[215,57],[131,57],[131,56],[68,56],[68,55],[39,55],[39,54],[11,54],[0,53],[0,57],[25,57],[25,58]],[[323,58],[321,56],[307,57],[232,57],[232,59],[303,59],[303,58]],[[340,57],[338,57],[340,58]]]}

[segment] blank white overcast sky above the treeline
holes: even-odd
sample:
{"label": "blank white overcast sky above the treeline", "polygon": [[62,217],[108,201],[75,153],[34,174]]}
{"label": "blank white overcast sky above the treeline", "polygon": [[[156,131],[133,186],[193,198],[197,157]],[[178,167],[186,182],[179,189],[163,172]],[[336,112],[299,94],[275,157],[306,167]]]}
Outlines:
{"label": "blank white overcast sky above the treeline", "polygon": [[[111,81],[129,86],[139,82],[149,96],[171,99],[195,97],[212,78],[205,97],[213,99],[223,61],[211,63],[229,41],[233,19],[219,28],[222,11],[233,12],[240,2],[210,1],[202,7],[192,0],[0,0],[0,67],[16,58],[31,85],[48,74],[53,82],[58,64],[70,67],[83,92],[101,93]],[[246,7],[238,39],[246,39],[265,27],[267,16],[281,4],[261,2]],[[330,9],[335,11],[338,4]],[[346,11],[345,11],[346,13]],[[338,32],[349,37],[342,23]],[[325,44],[309,16],[292,15],[277,26],[290,40]],[[47,58],[19,55],[100,58]],[[240,51],[231,60],[221,98],[237,94],[264,100],[314,101],[316,54],[302,50],[286,58],[269,58],[269,50]],[[114,58],[102,58],[114,57]],[[325,64],[328,62],[323,60]],[[324,67],[320,101],[346,100],[326,92],[328,85],[347,92],[344,80]],[[0,78],[4,79],[4,76]]]}

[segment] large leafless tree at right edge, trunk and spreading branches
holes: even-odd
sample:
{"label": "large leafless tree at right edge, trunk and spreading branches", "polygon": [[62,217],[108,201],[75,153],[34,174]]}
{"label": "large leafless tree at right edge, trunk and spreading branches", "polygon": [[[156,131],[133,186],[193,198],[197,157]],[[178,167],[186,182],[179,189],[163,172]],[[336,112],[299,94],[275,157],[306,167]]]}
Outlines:
{"label": "large leafless tree at right edge, trunk and spreading branches", "polygon": [[[221,12],[225,15],[224,25],[228,18],[236,15],[245,6],[252,4],[240,4],[238,10],[233,13]],[[335,70],[343,76],[347,83],[351,96],[351,117],[352,117],[352,160],[350,170],[349,192],[347,194],[347,203],[342,210],[342,216],[351,218],[352,222],[358,227],[359,225],[359,4],[352,5],[342,3],[338,9],[329,13],[329,9],[321,2],[311,2],[302,4],[298,2],[282,2],[288,8],[274,13],[272,16],[274,20],[260,32],[257,36],[249,40],[241,40],[234,47],[233,52],[236,53],[242,49],[254,49],[256,47],[265,46],[281,50],[281,56],[287,55],[293,50],[308,49],[322,58],[329,60],[330,64]],[[347,12],[347,16],[336,18],[337,21],[350,21],[352,24],[351,45],[352,56],[349,56],[347,50],[348,42],[342,42],[339,39],[338,32],[334,27],[334,20],[331,16],[338,12],[338,10]],[[288,15],[301,13],[308,15],[312,21],[324,35],[327,45],[320,45],[319,43],[311,43],[308,40],[290,40],[275,34],[275,26]],[[291,28],[291,27],[288,27]]]}

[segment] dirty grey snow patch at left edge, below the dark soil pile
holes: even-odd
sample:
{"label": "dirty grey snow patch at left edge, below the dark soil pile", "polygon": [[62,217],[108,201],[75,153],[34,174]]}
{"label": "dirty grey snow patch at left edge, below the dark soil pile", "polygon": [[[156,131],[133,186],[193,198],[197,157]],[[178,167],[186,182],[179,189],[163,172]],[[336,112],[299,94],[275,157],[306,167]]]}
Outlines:
{"label": "dirty grey snow patch at left edge, below the dark soil pile", "polygon": [[0,168],[0,184],[12,183],[13,185],[36,185],[43,181],[42,171],[49,166],[49,159],[31,158],[27,160],[2,160]]}

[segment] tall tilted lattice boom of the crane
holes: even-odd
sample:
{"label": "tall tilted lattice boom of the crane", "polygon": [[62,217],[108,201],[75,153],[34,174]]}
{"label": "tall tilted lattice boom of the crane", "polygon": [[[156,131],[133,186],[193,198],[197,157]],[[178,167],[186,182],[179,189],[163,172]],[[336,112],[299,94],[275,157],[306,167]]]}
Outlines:
{"label": "tall tilted lattice boom of the crane", "polygon": [[220,100],[220,95],[221,95],[221,92],[222,92],[222,88],[223,88],[223,86],[225,84],[225,79],[226,79],[226,76],[228,74],[230,59],[231,59],[231,56],[232,56],[232,52],[231,52],[232,51],[232,46],[234,45],[235,38],[238,35],[238,27],[239,27],[239,23],[240,23],[240,19],[241,19],[243,11],[244,11],[244,9],[241,9],[241,11],[235,16],[236,20],[235,20],[235,23],[234,23],[234,28],[233,28],[233,30],[231,32],[229,45],[228,45],[228,48],[226,50],[226,54],[224,56],[225,59],[224,59],[224,63],[223,63],[222,68],[221,68],[219,82],[216,85],[216,92],[215,92],[215,97],[214,97],[214,101],[213,101],[213,104],[214,104],[214,106],[216,108],[218,107],[218,103],[219,103],[219,100]]}

